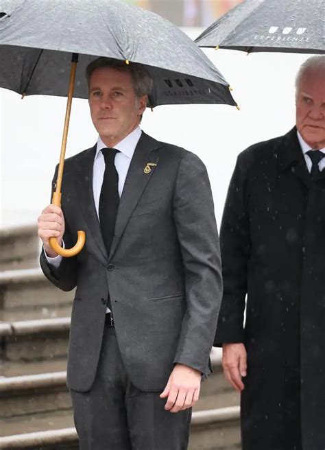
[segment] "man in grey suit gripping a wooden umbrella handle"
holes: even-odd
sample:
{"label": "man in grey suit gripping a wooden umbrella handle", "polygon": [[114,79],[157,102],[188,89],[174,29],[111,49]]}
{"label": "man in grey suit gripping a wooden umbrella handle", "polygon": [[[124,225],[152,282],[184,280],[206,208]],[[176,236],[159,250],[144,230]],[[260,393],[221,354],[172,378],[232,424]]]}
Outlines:
{"label": "man in grey suit gripping a wooden umbrella handle", "polygon": [[[67,384],[80,449],[184,450],[221,301],[208,175],[139,128],[152,88],[140,64],[99,58],[87,79],[99,139],[67,159],[62,209],[38,217],[43,272],[77,287]],[[78,229],[84,249],[62,259],[49,237],[71,247]]]}

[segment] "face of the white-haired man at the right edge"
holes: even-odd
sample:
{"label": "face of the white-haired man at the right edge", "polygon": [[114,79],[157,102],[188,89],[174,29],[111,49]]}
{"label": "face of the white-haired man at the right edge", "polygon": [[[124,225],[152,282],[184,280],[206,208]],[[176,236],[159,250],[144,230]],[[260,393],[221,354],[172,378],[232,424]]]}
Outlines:
{"label": "face of the white-haired man at the right edge", "polygon": [[325,147],[325,72],[307,71],[298,86],[296,125],[312,148]]}

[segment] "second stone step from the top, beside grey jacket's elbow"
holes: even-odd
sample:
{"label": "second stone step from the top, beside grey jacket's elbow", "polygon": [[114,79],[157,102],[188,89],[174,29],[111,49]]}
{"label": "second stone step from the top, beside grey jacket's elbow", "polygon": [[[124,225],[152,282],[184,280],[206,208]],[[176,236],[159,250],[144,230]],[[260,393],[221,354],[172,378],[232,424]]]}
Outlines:
{"label": "second stone step from the top, beside grey jacket's elbow", "polygon": [[67,317],[74,292],[62,292],[36,269],[0,273],[0,320],[34,320]]}

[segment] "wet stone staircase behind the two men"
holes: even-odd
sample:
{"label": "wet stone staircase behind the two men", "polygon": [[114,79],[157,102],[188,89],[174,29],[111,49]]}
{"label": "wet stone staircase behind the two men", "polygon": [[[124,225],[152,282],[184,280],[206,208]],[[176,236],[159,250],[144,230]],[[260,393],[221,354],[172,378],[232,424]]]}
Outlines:
{"label": "wet stone staircase behind the two men", "polygon": [[[73,292],[49,283],[38,265],[35,226],[0,230],[0,449],[75,450],[66,387]],[[220,354],[202,383],[190,450],[239,450],[239,396]]]}

